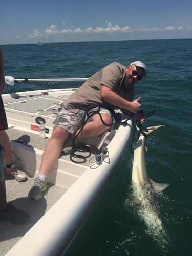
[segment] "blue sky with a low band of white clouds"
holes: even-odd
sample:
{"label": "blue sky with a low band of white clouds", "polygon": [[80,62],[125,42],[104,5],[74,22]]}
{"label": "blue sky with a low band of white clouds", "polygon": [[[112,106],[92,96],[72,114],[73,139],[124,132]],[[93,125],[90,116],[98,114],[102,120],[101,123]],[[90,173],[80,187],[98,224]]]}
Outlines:
{"label": "blue sky with a low band of white clouds", "polygon": [[191,0],[0,0],[0,45],[192,38]]}

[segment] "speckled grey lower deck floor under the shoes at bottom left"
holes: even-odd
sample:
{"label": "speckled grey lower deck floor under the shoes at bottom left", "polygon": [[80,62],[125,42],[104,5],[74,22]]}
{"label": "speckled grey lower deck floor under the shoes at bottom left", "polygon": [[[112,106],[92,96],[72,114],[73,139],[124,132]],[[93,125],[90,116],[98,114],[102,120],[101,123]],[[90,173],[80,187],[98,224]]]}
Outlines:
{"label": "speckled grey lower deck floor under the shoes at bottom left", "polygon": [[9,176],[5,178],[7,201],[12,201],[15,207],[29,212],[31,219],[25,225],[15,225],[8,221],[0,222],[1,256],[4,256],[67,191],[66,188],[48,183],[48,190],[41,200],[30,200],[27,196],[33,185],[33,178],[29,177],[26,182],[18,182]]}

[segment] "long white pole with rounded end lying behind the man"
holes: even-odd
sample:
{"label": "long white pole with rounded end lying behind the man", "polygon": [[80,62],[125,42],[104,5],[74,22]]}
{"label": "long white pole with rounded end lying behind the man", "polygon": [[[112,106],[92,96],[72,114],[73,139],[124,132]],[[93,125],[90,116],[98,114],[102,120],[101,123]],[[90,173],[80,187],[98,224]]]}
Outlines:
{"label": "long white pole with rounded end lying behind the man", "polygon": [[5,76],[5,83],[8,84],[8,86],[14,86],[15,82],[62,82],[62,81],[87,81],[89,78],[37,78],[37,79],[15,79],[12,76]]}

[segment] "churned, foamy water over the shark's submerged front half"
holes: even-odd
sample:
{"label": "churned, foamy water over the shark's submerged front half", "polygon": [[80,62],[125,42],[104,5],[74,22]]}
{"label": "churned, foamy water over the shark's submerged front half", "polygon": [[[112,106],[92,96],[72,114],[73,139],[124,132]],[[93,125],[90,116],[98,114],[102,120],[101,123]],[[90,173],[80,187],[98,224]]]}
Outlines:
{"label": "churned, foamy water over the shark's submerged front half", "polygon": [[149,183],[141,186],[132,185],[131,194],[126,200],[126,207],[130,206],[139,219],[145,224],[145,233],[150,236],[161,251],[169,251],[172,246],[169,234],[162,222],[160,199],[163,193],[155,192]]}

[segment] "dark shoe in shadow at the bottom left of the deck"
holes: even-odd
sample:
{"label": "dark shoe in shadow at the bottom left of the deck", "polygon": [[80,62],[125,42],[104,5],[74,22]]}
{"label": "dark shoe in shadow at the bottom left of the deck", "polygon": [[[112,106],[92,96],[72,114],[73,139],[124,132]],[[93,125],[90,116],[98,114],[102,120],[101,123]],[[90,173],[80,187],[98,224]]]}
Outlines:
{"label": "dark shoe in shadow at the bottom left of the deck", "polygon": [[30,220],[30,215],[15,208],[11,202],[7,204],[7,208],[0,212],[0,221],[10,221],[16,225],[26,224]]}

